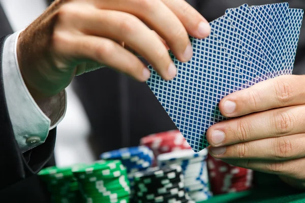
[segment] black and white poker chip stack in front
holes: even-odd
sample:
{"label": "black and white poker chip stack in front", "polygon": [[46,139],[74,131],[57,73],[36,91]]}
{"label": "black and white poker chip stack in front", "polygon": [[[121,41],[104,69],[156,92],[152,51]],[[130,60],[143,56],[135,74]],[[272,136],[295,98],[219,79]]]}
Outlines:
{"label": "black and white poker chip stack in front", "polygon": [[182,169],[178,165],[152,167],[135,174],[135,202],[194,202],[184,190]]}

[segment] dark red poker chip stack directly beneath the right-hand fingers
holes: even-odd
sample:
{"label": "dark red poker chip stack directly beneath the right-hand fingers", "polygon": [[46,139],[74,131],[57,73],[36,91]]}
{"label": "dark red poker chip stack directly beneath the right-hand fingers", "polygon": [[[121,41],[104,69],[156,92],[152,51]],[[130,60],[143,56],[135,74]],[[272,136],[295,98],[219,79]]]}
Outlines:
{"label": "dark red poker chip stack directly beneath the right-hand fingers", "polygon": [[252,186],[253,171],[250,169],[230,165],[210,155],[208,155],[207,167],[214,194],[245,191]]}

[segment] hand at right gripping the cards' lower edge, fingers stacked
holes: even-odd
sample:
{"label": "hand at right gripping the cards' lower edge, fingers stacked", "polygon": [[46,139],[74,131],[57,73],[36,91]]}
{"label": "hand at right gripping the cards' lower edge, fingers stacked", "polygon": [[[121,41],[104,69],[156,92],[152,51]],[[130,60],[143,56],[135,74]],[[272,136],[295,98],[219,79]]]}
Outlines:
{"label": "hand at right gripping the cards' lower edge, fingers stacked", "polygon": [[222,115],[237,117],[207,131],[209,153],[223,161],[280,175],[305,189],[305,76],[281,76],[224,97]]}

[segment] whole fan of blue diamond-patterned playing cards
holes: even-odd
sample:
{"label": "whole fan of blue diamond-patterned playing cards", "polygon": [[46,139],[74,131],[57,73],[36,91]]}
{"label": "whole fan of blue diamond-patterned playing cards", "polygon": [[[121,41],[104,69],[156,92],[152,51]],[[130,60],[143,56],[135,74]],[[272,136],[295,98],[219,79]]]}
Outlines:
{"label": "whole fan of blue diamond-patterned playing cards", "polygon": [[177,66],[173,80],[163,80],[148,66],[148,86],[195,152],[208,146],[207,129],[228,119],[218,108],[224,96],[292,74],[302,18],[303,10],[288,3],[228,9],[210,22],[208,38],[190,38],[189,62],[171,54]]}

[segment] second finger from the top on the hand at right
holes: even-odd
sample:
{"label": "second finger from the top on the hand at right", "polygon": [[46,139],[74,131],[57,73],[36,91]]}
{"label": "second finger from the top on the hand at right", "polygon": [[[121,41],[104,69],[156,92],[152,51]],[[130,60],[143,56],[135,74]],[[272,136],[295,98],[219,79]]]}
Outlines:
{"label": "second finger from the top on the hand at right", "polygon": [[302,112],[305,106],[280,108],[226,120],[212,125],[206,133],[213,147],[232,145],[264,138],[304,133]]}

